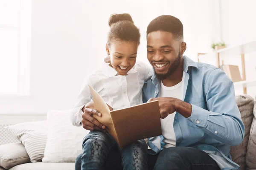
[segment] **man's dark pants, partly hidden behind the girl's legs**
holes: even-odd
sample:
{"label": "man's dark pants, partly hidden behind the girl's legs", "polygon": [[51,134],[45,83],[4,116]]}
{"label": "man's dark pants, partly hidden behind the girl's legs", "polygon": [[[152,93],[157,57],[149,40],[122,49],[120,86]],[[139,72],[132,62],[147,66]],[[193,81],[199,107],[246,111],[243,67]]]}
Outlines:
{"label": "man's dark pants, partly hidden behind the girl's legs", "polygon": [[[81,155],[75,170],[81,170]],[[148,154],[148,170],[220,170],[216,162],[204,151],[192,147],[169,147],[157,155]],[[113,149],[108,154],[105,170],[122,170],[121,156]]]}

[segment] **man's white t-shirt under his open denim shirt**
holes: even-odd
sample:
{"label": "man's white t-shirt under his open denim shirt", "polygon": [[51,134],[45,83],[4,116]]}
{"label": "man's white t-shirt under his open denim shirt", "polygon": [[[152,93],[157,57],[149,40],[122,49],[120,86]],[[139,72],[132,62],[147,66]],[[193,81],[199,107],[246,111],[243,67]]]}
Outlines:
{"label": "man's white t-shirt under his open denim shirt", "polygon": [[[183,71],[182,81],[172,87],[166,87],[161,81],[160,97],[174,97],[182,100],[185,72]],[[176,137],[173,129],[173,121],[176,112],[169,114],[165,119],[161,119],[164,148],[175,147]]]}

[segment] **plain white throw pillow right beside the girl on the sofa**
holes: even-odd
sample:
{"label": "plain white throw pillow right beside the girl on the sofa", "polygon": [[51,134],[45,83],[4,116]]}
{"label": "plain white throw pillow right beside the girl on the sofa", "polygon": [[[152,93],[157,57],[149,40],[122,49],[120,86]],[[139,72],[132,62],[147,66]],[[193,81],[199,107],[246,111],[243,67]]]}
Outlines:
{"label": "plain white throw pillow right beside the girl on the sofa", "polygon": [[71,110],[47,113],[48,136],[43,162],[75,162],[82,153],[82,140],[90,131],[73,126]]}

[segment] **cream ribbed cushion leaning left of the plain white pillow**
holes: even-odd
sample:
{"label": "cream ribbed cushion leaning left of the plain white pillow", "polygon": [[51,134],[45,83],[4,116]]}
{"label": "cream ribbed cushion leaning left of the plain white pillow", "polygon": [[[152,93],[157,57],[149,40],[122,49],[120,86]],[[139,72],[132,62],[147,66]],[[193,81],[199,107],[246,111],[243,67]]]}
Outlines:
{"label": "cream ribbed cushion leaning left of the plain white pillow", "polygon": [[47,141],[46,121],[20,123],[6,129],[25,146],[32,162],[42,160]]}

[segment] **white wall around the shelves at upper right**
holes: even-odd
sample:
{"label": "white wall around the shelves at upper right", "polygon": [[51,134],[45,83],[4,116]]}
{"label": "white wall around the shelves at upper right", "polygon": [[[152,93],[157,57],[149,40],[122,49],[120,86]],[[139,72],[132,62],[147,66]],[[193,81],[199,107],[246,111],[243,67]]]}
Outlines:
{"label": "white wall around the shelves at upper right", "polygon": [[[255,6],[255,0],[221,1],[223,40],[228,45],[239,45],[256,40]],[[224,63],[239,65],[241,71],[240,56],[226,58]],[[246,79],[256,80],[256,52],[245,54],[245,68]],[[236,94],[242,93],[242,88],[236,89]],[[247,88],[247,94],[256,96],[256,87]]]}

